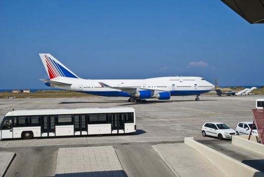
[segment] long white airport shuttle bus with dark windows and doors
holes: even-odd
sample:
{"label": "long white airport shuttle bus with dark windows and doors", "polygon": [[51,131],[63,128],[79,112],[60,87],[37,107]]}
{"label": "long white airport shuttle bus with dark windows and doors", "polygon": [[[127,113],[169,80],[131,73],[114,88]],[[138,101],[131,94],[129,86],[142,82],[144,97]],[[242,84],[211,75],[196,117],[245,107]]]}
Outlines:
{"label": "long white airport shuttle bus with dark windows and doors", "polygon": [[1,139],[126,134],[136,131],[135,109],[15,110],[1,123]]}

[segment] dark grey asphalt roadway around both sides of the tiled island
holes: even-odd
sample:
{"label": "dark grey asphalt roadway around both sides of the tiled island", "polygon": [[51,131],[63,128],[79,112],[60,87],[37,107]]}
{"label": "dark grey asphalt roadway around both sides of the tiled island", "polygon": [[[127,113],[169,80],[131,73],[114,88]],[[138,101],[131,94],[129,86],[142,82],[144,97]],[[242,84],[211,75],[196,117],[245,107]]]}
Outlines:
{"label": "dark grey asphalt roadway around both sides of the tiled island", "polygon": [[[97,144],[89,146],[113,146],[124,171],[130,177],[174,176],[168,166],[152,149],[151,146],[154,144],[157,144],[157,142]],[[59,148],[84,146],[87,145],[2,148],[1,151],[16,153],[16,157],[5,176],[55,176]]]}

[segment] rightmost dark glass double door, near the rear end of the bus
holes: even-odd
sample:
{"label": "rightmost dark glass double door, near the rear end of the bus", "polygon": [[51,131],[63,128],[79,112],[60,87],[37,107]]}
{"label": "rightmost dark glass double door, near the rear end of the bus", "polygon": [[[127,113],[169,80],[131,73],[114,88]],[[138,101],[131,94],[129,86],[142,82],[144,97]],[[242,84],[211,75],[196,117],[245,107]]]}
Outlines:
{"label": "rightmost dark glass double door, near the rear end of the bus", "polygon": [[111,116],[112,134],[124,134],[125,122],[124,115],[121,113],[114,113]]}

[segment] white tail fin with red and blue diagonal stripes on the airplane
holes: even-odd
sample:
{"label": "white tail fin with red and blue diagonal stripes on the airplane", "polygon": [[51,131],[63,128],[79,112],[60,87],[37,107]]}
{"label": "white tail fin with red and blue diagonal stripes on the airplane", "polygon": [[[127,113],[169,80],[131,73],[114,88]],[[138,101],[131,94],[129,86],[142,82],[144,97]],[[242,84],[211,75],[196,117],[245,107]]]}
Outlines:
{"label": "white tail fin with red and blue diagonal stripes on the airplane", "polygon": [[41,61],[46,69],[49,79],[57,77],[79,78],[70,69],[64,66],[50,54],[39,54]]}

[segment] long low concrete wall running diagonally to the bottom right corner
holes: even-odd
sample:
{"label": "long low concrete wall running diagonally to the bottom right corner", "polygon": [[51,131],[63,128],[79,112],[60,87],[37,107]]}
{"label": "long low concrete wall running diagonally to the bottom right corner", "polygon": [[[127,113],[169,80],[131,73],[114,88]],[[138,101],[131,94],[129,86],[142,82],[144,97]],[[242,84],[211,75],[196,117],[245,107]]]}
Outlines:
{"label": "long low concrete wall running diagonally to the bottom right corner", "polygon": [[207,160],[213,163],[219,170],[227,176],[235,177],[249,177],[249,176],[264,176],[264,173],[245,165],[233,158],[226,156],[212,148],[202,145],[193,140],[192,137],[184,138],[184,143],[196,149]]}

